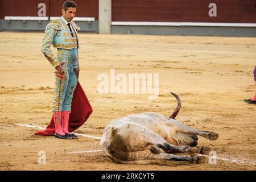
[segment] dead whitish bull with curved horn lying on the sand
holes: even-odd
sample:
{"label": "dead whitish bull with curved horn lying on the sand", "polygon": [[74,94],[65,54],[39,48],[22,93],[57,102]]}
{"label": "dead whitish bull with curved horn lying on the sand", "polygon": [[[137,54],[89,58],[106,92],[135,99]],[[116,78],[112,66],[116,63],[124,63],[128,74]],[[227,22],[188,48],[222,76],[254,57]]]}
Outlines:
{"label": "dead whitish bull with curved horn lying on the sand", "polygon": [[[204,163],[209,147],[196,147],[197,135],[209,140],[218,134],[200,131],[175,120],[180,98],[170,118],[158,113],[131,114],[114,119],[104,129],[100,142],[109,159],[122,164],[167,164],[177,162]],[[190,156],[174,155],[184,153]]]}

